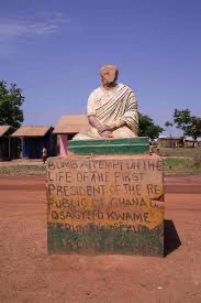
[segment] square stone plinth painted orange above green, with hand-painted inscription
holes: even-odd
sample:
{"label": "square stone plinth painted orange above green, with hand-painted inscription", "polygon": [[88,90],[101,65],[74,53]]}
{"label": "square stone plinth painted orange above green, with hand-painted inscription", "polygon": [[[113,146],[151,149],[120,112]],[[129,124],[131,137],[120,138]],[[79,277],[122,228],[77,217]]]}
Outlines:
{"label": "square stone plinth painted orange above green, with hand-painted inscription", "polygon": [[164,256],[158,155],[48,159],[46,187],[51,253]]}

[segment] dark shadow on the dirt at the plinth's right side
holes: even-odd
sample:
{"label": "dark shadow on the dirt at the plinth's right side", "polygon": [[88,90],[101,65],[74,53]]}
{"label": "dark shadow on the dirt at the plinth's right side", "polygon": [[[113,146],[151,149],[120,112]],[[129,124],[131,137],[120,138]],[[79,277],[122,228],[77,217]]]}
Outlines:
{"label": "dark shadow on the dirt at the plinth's right side", "polygon": [[181,241],[172,220],[164,220],[164,256],[179,248]]}

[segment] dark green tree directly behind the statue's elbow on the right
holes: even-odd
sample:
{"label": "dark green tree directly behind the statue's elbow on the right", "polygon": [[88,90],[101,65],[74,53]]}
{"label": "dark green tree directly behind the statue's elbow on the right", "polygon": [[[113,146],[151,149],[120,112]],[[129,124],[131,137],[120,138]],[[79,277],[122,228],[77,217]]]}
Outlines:
{"label": "dark green tree directly behind the statue's elbow on the right", "polygon": [[150,139],[158,138],[159,133],[164,129],[159,126],[156,126],[152,118],[147,115],[138,113],[138,136],[148,137]]}

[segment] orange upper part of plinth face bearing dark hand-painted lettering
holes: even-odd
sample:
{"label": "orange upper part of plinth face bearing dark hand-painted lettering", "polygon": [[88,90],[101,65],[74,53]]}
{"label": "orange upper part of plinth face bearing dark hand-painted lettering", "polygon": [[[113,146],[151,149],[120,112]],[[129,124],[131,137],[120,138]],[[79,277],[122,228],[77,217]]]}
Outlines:
{"label": "orange upper part of plinth face bearing dark hand-painted lettering", "polygon": [[153,228],[163,220],[159,159],[48,161],[46,188],[48,223]]}

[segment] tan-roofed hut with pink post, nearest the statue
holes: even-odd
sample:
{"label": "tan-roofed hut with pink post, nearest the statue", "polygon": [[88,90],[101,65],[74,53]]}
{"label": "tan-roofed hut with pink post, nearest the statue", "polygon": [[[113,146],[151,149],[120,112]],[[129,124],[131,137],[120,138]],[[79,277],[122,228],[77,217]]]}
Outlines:
{"label": "tan-roofed hut with pink post, nearest the statue", "polygon": [[53,132],[58,136],[59,155],[66,156],[68,140],[71,140],[79,132],[87,133],[88,128],[87,115],[62,116]]}

